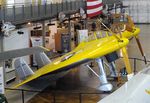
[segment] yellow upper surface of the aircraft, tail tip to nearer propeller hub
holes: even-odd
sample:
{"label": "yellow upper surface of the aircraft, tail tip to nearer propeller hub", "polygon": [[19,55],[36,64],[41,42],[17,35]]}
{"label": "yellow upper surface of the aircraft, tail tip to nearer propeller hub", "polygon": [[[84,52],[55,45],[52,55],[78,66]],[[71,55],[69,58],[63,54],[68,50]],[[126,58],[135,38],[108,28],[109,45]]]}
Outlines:
{"label": "yellow upper surface of the aircraft, tail tip to nearer propeller hub", "polygon": [[14,88],[17,88],[40,76],[52,72],[59,72],[60,70],[69,69],[75,65],[87,62],[88,60],[99,58],[103,55],[106,55],[126,46],[128,42],[128,39],[125,38],[121,38],[121,41],[118,41],[118,39],[114,36],[109,36],[90,42],[83,42],[73,51],[40,68],[34,73],[34,75],[28,77],[26,80],[22,81]]}

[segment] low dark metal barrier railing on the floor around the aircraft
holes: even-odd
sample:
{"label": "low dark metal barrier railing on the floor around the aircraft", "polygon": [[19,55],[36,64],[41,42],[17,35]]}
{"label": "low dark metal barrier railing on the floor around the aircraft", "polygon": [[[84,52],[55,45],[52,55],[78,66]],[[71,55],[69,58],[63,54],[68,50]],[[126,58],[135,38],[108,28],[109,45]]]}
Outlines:
{"label": "low dark metal barrier railing on the floor around the aircraft", "polygon": [[[122,58],[122,57],[120,57]],[[133,67],[134,67],[134,72],[137,73],[137,61],[143,62],[145,63],[144,59],[139,59],[139,58],[129,58],[130,60],[133,60]],[[150,61],[146,61],[147,63],[150,63]],[[10,91],[20,91],[21,92],[21,101],[22,103],[25,103],[25,92],[32,92],[32,93],[46,93],[46,94],[51,94],[52,95],[52,102],[50,103],[56,103],[57,102],[57,94],[63,94],[63,95],[67,95],[67,94],[73,94],[73,95],[77,95],[78,96],[78,102],[82,103],[83,99],[82,97],[84,95],[99,95],[99,94],[104,94],[104,92],[58,92],[57,90],[51,90],[50,91],[37,91],[37,90],[26,90],[26,89],[12,89],[12,88],[5,88],[5,90],[10,90]],[[112,91],[113,92],[113,91]],[[107,92],[106,92],[107,93]],[[107,93],[109,94],[109,92]],[[7,98],[7,97],[6,97]],[[96,102],[96,101],[95,101]]]}

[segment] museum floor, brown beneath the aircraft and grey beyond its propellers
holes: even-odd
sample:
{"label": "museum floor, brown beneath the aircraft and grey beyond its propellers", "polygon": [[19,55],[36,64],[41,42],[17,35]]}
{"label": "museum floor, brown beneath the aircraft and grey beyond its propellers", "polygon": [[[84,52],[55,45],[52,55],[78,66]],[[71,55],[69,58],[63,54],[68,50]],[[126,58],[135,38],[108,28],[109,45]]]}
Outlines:
{"label": "museum floor, brown beneath the aircraft and grey beyond its propellers", "polygon": [[[146,54],[147,60],[150,59],[150,34],[149,34],[149,28],[150,25],[137,25],[141,28],[141,34],[140,34],[140,40],[144,49],[144,52]],[[129,57],[131,58],[140,58],[143,59],[143,57],[140,55],[140,52],[138,50],[137,44],[135,43],[135,40],[132,39],[128,46],[129,51]],[[117,63],[118,62],[118,63]],[[130,60],[132,64],[132,68],[136,68],[137,71],[141,70],[142,68],[145,68],[147,65],[144,64],[143,61],[140,60]],[[136,63],[135,63],[136,62]],[[116,61],[117,68],[123,68],[124,64],[122,60]],[[134,66],[136,64],[136,66]],[[148,63],[149,64],[149,63]],[[94,70],[98,70],[96,66],[94,66]],[[110,82],[114,85],[114,90],[117,89],[121,85],[117,85],[117,81]],[[47,81],[46,84],[43,82],[37,82],[35,84],[37,87],[39,85],[47,85],[50,84],[50,82]],[[82,103],[96,103],[100,99],[104,98],[105,96],[109,95],[110,93],[102,93],[98,90],[99,87],[99,79],[91,73],[87,68],[85,68],[83,65],[72,69],[66,76],[59,79],[56,83],[56,86],[48,86],[42,90],[42,92],[38,94],[30,93],[28,96],[33,96],[30,100],[27,100],[27,103],[80,103],[80,100],[82,100]],[[38,89],[36,89],[38,90]],[[41,91],[41,90],[39,90]],[[21,93],[20,93],[21,94]],[[25,92],[27,96],[27,92]],[[18,97],[18,98],[21,98]],[[26,97],[25,97],[26,98]],[[8,98],[9,99],[9,98]],[[17,103],[11,101],[11,103]],[[19,103],[19,102],[18,102]],[[20,102],[21,103],[21,102]]]}

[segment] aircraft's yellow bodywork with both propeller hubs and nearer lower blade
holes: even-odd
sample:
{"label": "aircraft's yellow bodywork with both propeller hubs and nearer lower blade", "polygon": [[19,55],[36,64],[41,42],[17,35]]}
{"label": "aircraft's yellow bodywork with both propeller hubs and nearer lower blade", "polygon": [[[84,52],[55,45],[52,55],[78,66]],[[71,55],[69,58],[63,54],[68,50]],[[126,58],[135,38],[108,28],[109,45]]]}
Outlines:
{"label": "aircraft's yellow bodywork with both propeller hubs and nearer lower blade", "polygon": [[[114,34],[112,36],[104,37],[101,39],[92,40],[89,42],[82,42],[76,47],[73,51],[67,53],[66,55],[54,60],[52,63],[45,65],[35,72],[34,75],[28,77],[26,80],[22,81],[14,88],[17,88],[29,81],[32,81],[40,76],[46,75],[56,70],[60,70],[69,66],[71,64],[87,60],[87,59],[95,59],[99,58],[103,55],[109,54],[113,51],[117,51],[121,49],[122,54],[124,56],[124,62],[127,68],[127,72],[132,73],[132,69],[128,59],[128,53],[126,47],[129,38],[135,37],[139,34],[140,29],[133,27],[132,31],[123,31],[122,37],[120,34]],[[112,33],[112,32],[110,32]],[[65,60],[66,59],[66,60]]]}

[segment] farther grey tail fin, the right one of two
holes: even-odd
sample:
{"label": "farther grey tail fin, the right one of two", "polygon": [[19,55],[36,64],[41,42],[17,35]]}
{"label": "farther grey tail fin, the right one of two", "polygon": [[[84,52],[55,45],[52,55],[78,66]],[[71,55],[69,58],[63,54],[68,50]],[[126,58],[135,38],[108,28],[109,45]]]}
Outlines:
{"label": "farther grey tail fin, the right one of two", "polygon": [[44,52],[35,53],[35,60],[39,68],[51,63],[51,60],[48,58],[48,56]]}

